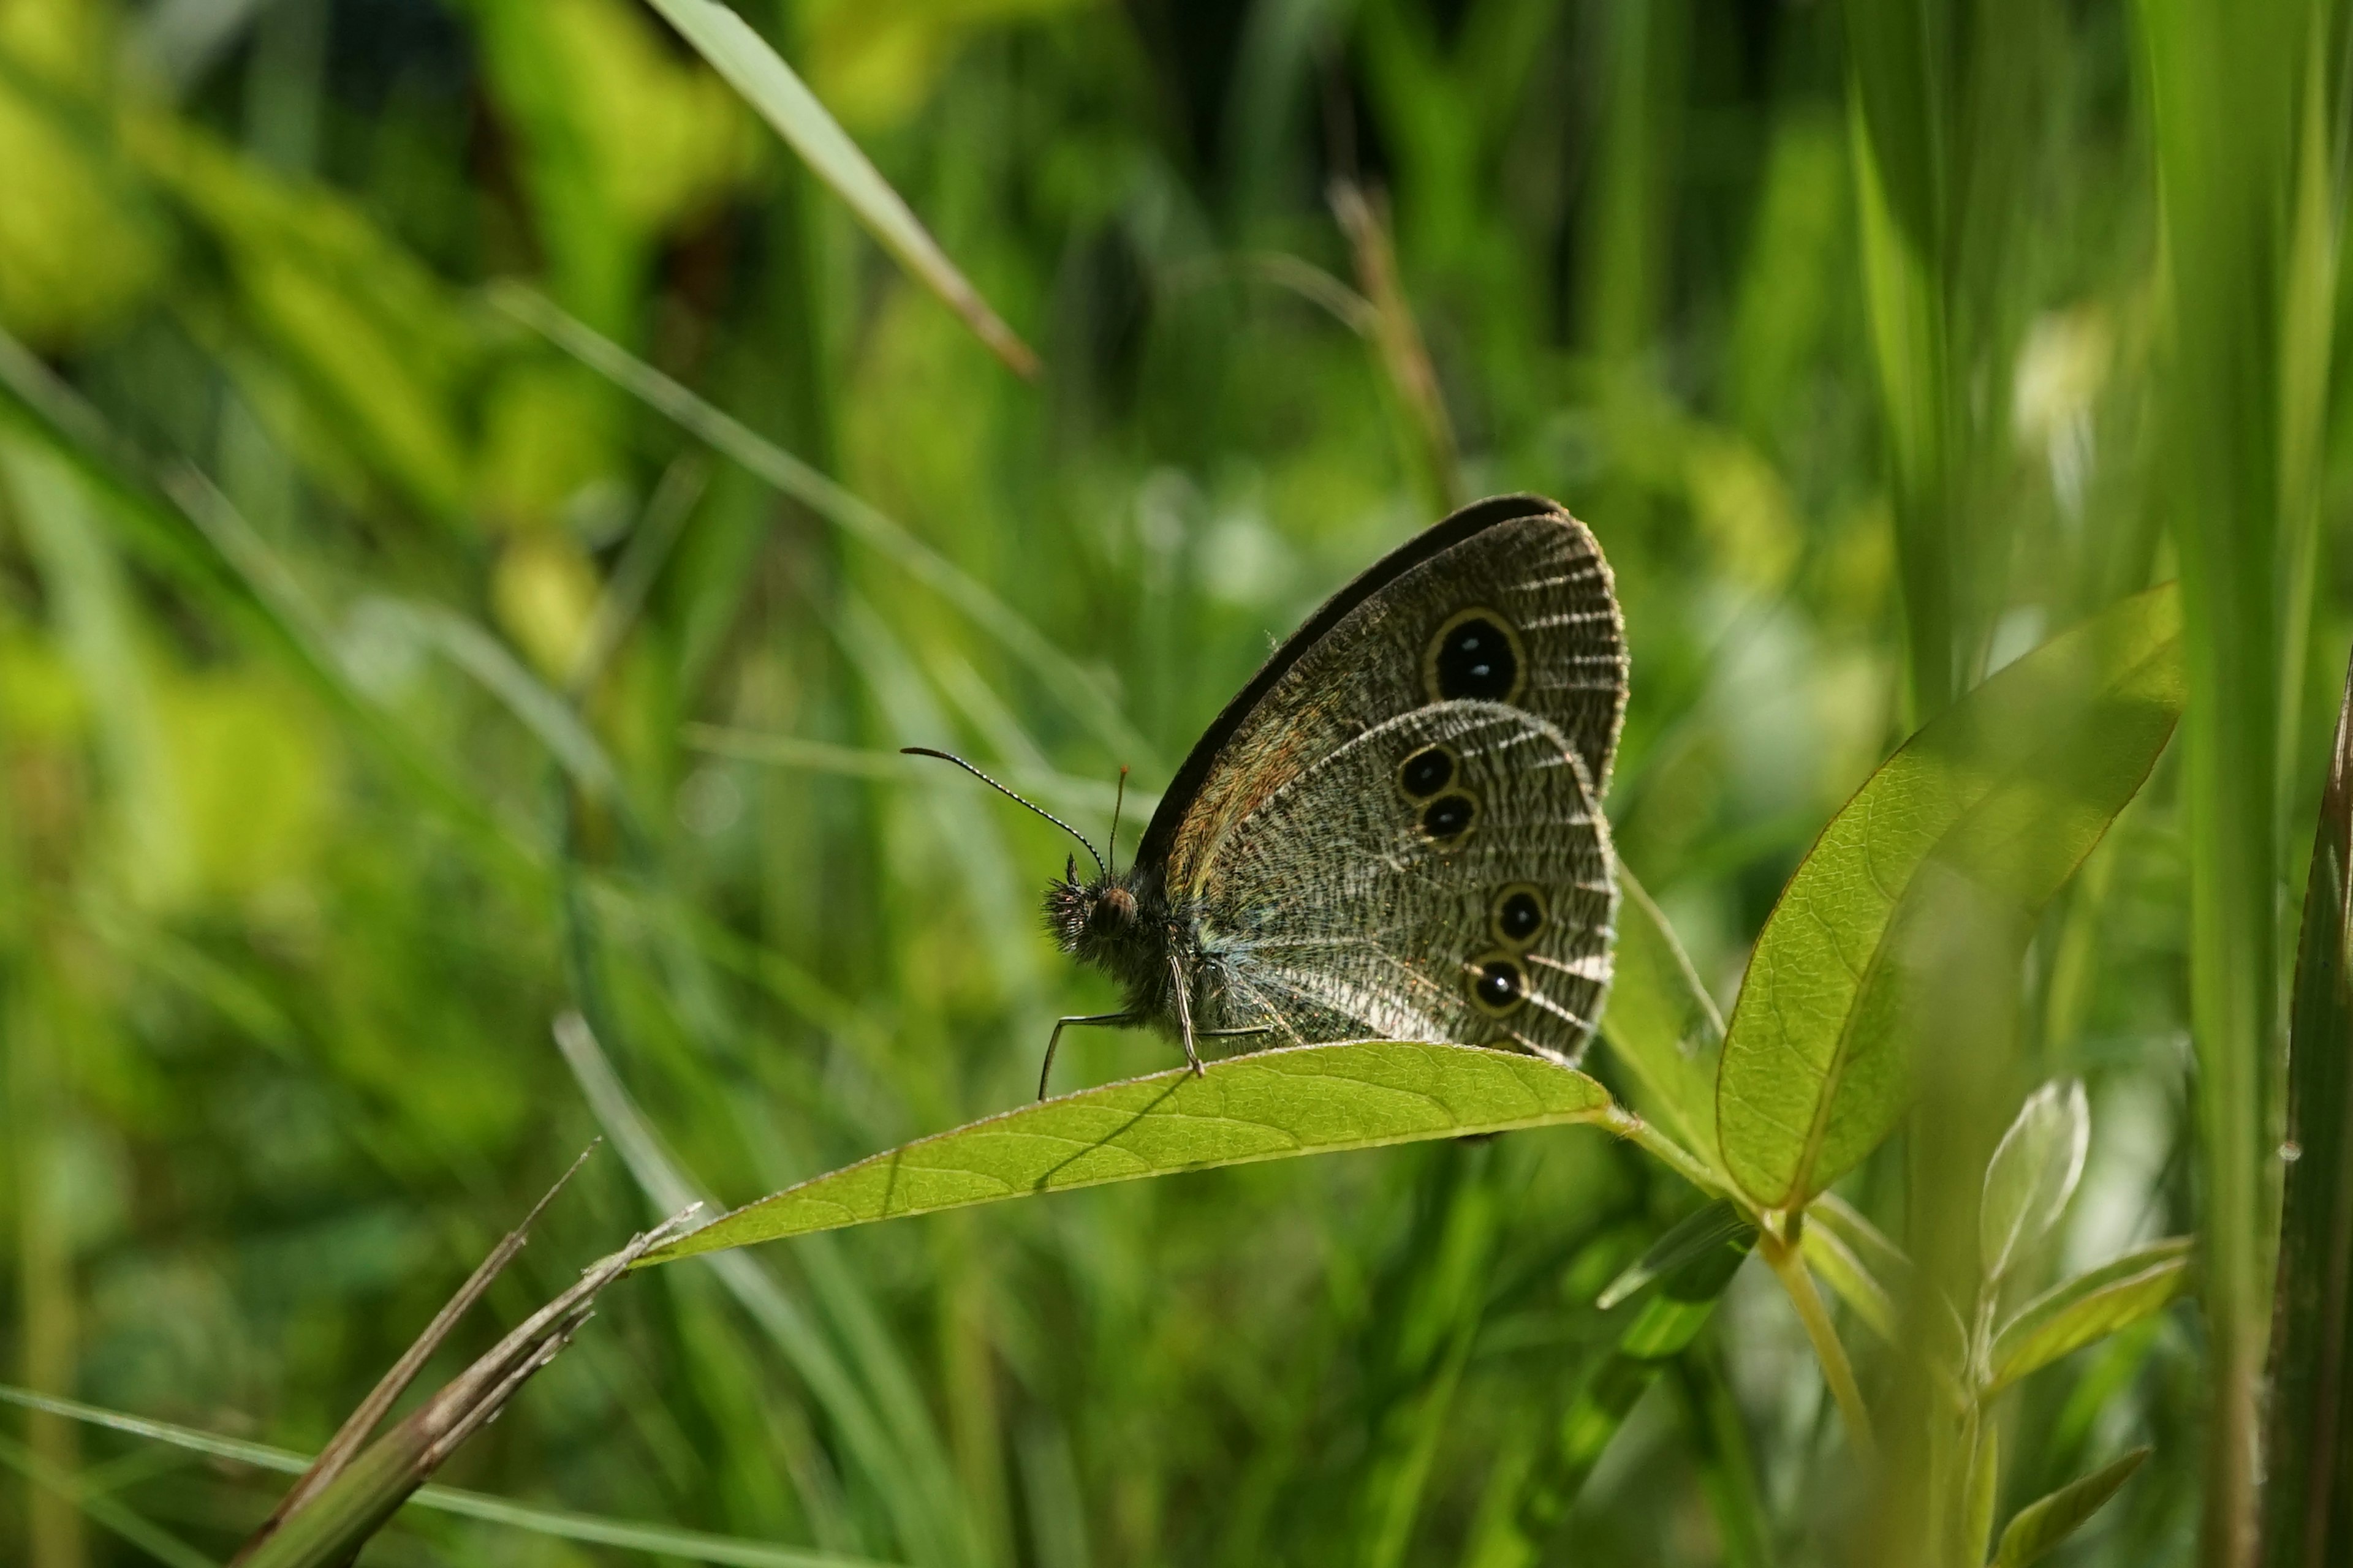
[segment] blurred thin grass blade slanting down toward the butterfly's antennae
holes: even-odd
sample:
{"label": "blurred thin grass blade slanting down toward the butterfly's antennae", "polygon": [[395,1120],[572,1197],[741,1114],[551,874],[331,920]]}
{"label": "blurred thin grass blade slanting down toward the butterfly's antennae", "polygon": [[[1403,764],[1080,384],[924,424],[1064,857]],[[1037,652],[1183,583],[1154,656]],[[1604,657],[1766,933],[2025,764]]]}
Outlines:
{"label": "blurred thin grass blade slanting down toward the butterfly's antennae", "polygon": [[962,567],[932,550],[908,534],[899,522],[882,515],[859,496],[849,494],[819,470],[795,458],[784,447],[755,435],[739,418],[711,407],[659,369],[619,348],[595,329],[576,322],[534,289],[513,282],[494,282],[489,301],[518,322],[539,331],[567,355],[598,371],[631,397],[673,421],[713,451],[727,456],[746,473],[765,480],[786,496],[793,496],[819,517],[835,522],[885,562],[899,567],[918,583],[965,611],[974,625],[1005,644],[1014,658],[1054,691],[1071,712],[1087,722],[1096,741],[1132,757],[1136,766],[1148,766],[1153,748],[1127,722],[1104,684],[1078,668],[1068,654],[1056,649],[1016,609],[979,583]]}

